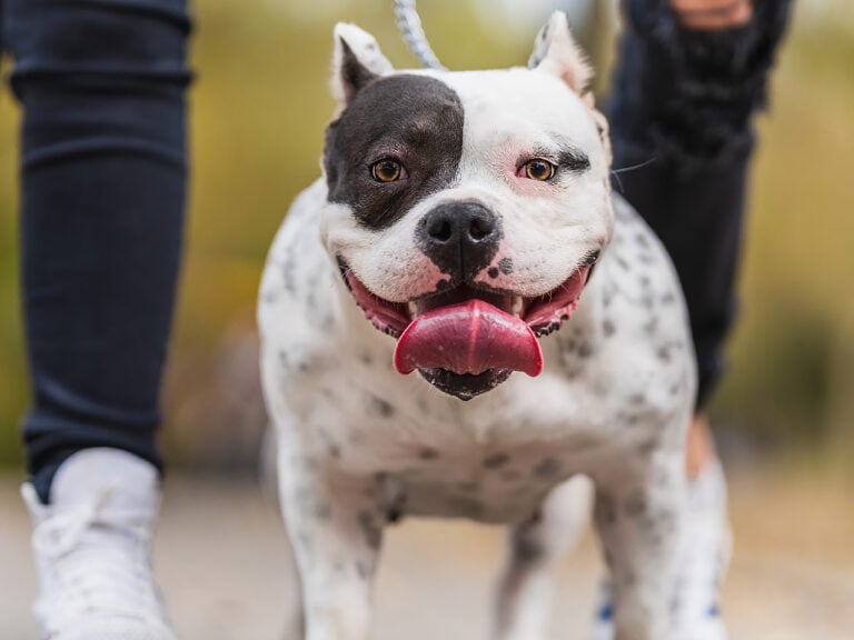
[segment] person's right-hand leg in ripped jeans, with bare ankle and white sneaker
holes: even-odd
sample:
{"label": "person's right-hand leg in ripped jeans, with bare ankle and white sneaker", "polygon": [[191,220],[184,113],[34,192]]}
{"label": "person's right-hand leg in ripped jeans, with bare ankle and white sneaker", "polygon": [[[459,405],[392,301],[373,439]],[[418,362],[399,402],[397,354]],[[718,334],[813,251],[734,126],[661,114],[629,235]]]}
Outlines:
{"label": "person's right-hand leg in ripped jeans, with bare ankle and white sneaker", "polygon": [[[788,0],[626,0],[607,106],[615,188],[673,258],[698,367],[687,440],[687,536],[675,637],[721,640],[717,590],[729,556],[726,483],[705,407],[736,312],[735,277],[754,136]],[[613,634],[606,601],[595,637]]]}

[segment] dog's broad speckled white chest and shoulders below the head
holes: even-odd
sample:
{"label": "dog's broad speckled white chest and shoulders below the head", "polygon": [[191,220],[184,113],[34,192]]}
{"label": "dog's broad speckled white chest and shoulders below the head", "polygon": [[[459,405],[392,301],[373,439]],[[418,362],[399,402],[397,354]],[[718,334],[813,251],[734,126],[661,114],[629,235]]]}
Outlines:
{"label": "dog's broad speckled white chest and shoulders below the head", "polygon": [[460,402],[394,370],[394,340],[336,287],[310,212],[289,220],[265,274],[270,410],[296,458],[384,479],[390,511],[530,517],[603,457],[648,456],[689,402],[677,284],[633,213],[617,208],[613,247],[576,314],[542,340],[543,374],[514,373]]}

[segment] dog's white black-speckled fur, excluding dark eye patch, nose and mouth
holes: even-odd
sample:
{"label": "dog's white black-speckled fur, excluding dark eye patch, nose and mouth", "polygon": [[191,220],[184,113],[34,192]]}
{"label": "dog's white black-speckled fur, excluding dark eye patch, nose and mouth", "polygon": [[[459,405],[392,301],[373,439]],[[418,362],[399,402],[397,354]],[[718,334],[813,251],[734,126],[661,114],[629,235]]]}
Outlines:
{"label": "dog's white black-speckled fur, excluding dark eye patch, nose and mouth", "polygon": [[[606,139],[585,98],[589,71],[565,17],[544,33],[533,70],[419,72],[451,87],[466,109],[455,184],[378,231],[329,203],[319,180],[274,241],[258,312],[261,369],[308,640],[369,638],[381,533],[400,510],[510,524],[494,638],[544,637],[548,571],[584,521],[589,487],[616,592],[616,640],[672,638],[695,388],[684,302],[655,236],[625,202],[612,203]],[[394,73],[352,26],[336,29],[336,64],[341,40],[371,71]],[[336,92],[346,100],[345,88]],[[557,138],[589,169],[519,183],[518,150]],[[335,257],[388,300],[428,292],[438,273],[414,229],[438,202],[471,198],[502,217],[496,260],[515,266],[502,287],[544,293],[590,250],[604,252],[574,317],[540,340],[544,372],[515,373],[461,402],[394,370],[394,339],[366,321]]]}

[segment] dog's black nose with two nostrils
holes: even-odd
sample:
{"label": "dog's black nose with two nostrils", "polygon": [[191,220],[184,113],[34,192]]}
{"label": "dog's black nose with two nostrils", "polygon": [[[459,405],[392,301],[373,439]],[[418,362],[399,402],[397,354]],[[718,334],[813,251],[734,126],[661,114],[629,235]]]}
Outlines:
{"label": "dog's black nose with two nostrils", "polygon": [[455,283],[488,267],[504,237],[496,214],[471,200],[439,204],[421,219],[416,234],[421,251]]}

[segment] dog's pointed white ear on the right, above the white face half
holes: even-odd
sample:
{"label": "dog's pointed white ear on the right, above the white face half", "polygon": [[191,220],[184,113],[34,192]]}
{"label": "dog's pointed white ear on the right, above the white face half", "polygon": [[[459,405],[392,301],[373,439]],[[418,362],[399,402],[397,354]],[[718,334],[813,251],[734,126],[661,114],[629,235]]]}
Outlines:
{"label": "dog's pointed white ear on the right, above the white face half", "polygon": [[529,69],[542,69],[560,78],[569,88],[585,97],[593,79],[587,57],[569,31],[569,20],[563,11],[555,11],[543,26],[534,42],[528,60]]}

